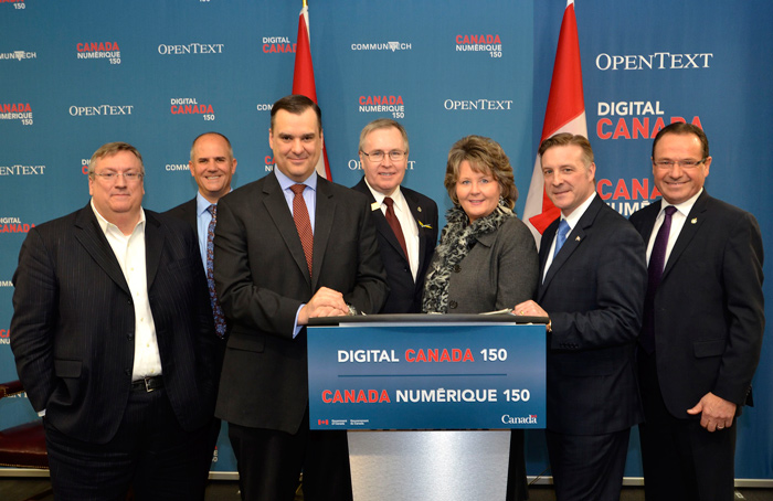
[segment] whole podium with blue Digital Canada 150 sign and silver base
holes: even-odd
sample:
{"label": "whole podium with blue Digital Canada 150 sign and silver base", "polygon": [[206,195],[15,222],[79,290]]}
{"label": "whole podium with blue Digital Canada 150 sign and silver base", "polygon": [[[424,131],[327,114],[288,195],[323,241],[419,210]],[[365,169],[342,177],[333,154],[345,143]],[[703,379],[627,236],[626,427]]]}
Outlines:
{"label": "whole podium with blue Digital Canada 150 sign and silver base", "polygon": [[309,424],[348,430],[354,501],[505,500],[510,429],[544,428],[547,322],[313,319]]}

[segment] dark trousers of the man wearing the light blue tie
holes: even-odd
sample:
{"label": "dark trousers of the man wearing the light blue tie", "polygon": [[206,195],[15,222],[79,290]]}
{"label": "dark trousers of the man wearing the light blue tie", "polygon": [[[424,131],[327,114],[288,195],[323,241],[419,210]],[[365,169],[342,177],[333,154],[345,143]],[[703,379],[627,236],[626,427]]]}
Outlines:
{"label": "dark trousers of the man wearing the light blue tie", "polygon": [[546,430],[558,501],[618,501],[631,428],[605,435]]}

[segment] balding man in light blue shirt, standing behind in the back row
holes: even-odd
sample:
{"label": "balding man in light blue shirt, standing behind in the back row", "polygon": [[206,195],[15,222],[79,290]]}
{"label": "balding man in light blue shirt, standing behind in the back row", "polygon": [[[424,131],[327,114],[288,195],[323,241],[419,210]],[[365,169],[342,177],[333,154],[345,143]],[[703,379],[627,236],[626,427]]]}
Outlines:
{"label": "balding man in light blue shirt, standing behind in the back row", "polygon": [[[215,359],[215,374],[220,377],[220,370],[225,353],[225,337],[227,326],[223,317],[223,310],[218,301],[214,289],[213,275],[213,236],[218,223],[218,201],[231,191],[231,178],[236,172],[236,159],[233,158],[233,148],[229,138],[219,132],[204,132],[193,139],[191,146],[191,159],[188,162],[191,175],[195,180],[199,191],[195,196],[169,211],[167,214],[178,217],[193,227],[199,237],[199,250],[201,262],[210,286],[210,306],[215,319],[215,332],[220,340],[218,356]],[[214,381],[215,387],[218,380]],[[212,416],[210,429],[209,451],[202,457],[205,472],[212,466],[212,452],[218,444],[220,435],[220,419]]]}

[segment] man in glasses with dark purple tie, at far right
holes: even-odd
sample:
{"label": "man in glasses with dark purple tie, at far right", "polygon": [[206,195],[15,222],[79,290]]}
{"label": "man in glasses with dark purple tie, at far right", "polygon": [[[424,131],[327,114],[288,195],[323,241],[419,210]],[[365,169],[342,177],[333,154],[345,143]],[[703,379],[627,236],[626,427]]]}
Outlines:
{"label": "man in glasses with dark purple tie, at far right", "polygon": [[663,199],[631,216],[649,244],[638,351],[645,495],[727,501],[733,424],[752,404],[765,323],[760,226],[703,190],[711,157],[699,127],[660,130],[652,161]]}

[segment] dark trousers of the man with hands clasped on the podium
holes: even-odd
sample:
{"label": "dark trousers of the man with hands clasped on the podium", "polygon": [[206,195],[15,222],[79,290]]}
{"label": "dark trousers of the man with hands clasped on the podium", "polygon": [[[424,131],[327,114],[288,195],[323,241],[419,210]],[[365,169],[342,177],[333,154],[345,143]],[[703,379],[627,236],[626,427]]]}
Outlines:
{"label": "dark trousers of the man with hands clasped on the podium", "polygon": [[308,428],[308,409],[296,434],[229,423],[243,500],[292,501],[303,470],[306,501],[351,501],[346,431]]}

